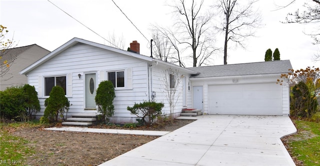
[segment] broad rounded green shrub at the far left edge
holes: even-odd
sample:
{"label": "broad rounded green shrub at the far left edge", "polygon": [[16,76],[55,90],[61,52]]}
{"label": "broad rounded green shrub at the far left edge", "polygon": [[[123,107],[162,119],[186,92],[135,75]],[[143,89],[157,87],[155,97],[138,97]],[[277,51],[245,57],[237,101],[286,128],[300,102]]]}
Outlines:
{"label": "broad rounded green shrub at the far left edge", "polygon": [[21,87],[9,87],[0,91],[0,113],[2,117],[25,121],[26,110]]}

